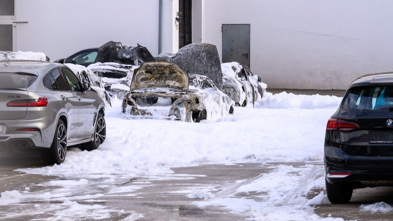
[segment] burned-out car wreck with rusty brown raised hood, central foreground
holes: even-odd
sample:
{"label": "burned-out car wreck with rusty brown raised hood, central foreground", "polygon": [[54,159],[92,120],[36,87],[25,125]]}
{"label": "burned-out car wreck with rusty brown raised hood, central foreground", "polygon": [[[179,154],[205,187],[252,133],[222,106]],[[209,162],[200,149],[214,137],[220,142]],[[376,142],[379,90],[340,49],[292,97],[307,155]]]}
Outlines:
{"label": "burned-out car wreck with rusty brown raised hood, central foreground", "polygon": [[141,118],[200,122],[233,113],[235,102],[206,76],[168,62],[143,63],[134,71],[123,113]]}

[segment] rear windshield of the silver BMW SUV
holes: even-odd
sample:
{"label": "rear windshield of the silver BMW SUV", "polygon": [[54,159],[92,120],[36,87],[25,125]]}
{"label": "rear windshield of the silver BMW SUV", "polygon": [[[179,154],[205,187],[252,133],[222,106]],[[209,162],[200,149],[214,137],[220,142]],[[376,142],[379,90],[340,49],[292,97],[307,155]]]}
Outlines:
{"label": "rear windshield of the silver BMW SUV", "polygon": [[0,88],[28,88],[37,76],[26,73],[0,72]]}

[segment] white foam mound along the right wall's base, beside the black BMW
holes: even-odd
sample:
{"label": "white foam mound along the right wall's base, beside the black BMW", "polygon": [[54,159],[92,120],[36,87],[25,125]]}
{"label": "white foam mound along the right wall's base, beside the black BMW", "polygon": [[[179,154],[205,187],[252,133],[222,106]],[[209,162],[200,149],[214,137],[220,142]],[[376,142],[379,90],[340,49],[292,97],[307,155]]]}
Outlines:
{"label": "white foam mound along the right wall's base, beside the black BMW", "polygon": [[303,95],[281,92],[279,94],[266,93],[262,98],[261,104],[254,107],[270,108],[270,109],[284,109],[284,108],[301,108],[301,109],[316,109],[316,108],[337,108],[341,103],[342,98],[330,95]]}

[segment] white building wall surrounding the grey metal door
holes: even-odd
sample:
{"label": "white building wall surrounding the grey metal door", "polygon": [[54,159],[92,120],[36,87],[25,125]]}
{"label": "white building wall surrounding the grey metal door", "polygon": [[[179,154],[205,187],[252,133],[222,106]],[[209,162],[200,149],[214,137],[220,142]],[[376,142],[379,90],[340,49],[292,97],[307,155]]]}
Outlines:
{"label": "white building wall surrounding the grey metal door", "polygon": [[393,1],[202,0],[202,42],[251,24],[251,69],[269,88],[346,89],[393,70]]}

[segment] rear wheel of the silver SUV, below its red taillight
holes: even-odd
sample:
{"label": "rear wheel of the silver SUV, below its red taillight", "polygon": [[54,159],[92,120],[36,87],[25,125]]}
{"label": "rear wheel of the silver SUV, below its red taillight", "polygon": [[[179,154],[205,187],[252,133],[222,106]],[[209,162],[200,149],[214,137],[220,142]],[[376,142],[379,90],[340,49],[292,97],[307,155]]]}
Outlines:
{"label": "rear wheel of the silver SUV, below its red taillight", "polygon": [[56,125],[55,136],[49,149],[42,151],[42,161],[45,164],[61,164],[67,154],[67,128],[62,120]]}

